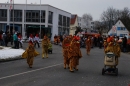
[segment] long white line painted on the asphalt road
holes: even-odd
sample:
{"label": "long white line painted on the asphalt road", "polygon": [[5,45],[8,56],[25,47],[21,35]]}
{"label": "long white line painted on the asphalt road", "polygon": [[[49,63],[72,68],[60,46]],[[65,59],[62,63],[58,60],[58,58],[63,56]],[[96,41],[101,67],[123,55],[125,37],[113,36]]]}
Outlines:
{"label": "long white line painted on the asphalt road", "polygon": [[63,64],[63,63],[52,65],[52,66],[48,66],[48,67],[44,67],[44,68],[40,68],[40,69],[36,69],[36,70],[31,70],[31,71],[27,71],[27,72],[23,72],[23,73],[18,73],[18,74],[14,74],[14,75],[10,75],[10,76],[1,77],[0,80],[1,79],[6,79],[6,78],[10,78],[10,77],[14,77],[14,76],[18,76],[18,75],[22,75],[22,74],[35,72],[35,71],[39,71],[39,70],[44,70],[44,69],[51,68],[51,67],[54,67],[54,66],[58,66],[58,65],[61,65],[61,64]]}

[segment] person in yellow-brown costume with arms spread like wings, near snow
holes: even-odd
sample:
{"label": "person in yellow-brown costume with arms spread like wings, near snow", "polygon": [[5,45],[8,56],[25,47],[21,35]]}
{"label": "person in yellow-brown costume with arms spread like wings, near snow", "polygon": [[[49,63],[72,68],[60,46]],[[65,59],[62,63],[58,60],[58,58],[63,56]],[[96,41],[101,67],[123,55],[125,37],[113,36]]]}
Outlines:
{"label": "person in yellow-brown costume with arms spread like wings, near snow", "polygon": [[27,64],[30,68],[32,68],[34,57],[37,55],[39,55],[39,53],[34,49],[34,45],[32,41],[30,41],[28,48],[22,54],[22,57],[27,59]]}

